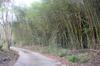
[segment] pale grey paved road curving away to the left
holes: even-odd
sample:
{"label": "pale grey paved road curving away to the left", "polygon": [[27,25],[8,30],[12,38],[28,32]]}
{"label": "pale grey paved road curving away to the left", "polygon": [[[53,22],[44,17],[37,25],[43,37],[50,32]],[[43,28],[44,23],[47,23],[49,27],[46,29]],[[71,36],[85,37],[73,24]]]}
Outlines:
{"label": "pale grey paved road curving away to the left", "polygon": [[60,62],[45,57],[40,53],[16,47],[11,47],[11,49],[19,54],[19,58],[14,66],[63,66]]}

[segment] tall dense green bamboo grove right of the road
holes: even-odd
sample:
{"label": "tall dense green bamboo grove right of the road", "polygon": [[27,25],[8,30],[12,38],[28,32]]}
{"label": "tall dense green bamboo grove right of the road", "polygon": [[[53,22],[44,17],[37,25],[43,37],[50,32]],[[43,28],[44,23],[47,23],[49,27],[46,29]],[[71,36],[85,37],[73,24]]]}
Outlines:
{"label": "tall dense green bamboo grove right of the road", "polygon": [[42,0],[14,6],[14,41],[74,49],[100,48],[99,0]]}

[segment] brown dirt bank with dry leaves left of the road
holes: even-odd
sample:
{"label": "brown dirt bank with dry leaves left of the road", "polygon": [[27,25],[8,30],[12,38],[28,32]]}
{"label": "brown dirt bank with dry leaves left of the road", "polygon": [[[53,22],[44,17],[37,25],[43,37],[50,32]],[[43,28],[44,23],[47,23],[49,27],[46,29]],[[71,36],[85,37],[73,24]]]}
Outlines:
{"label": "brown dirt bank with dry leaves left of the road", "polygon": [[19,55],[13,50],[0,50],[0,66],[14,66]]}

